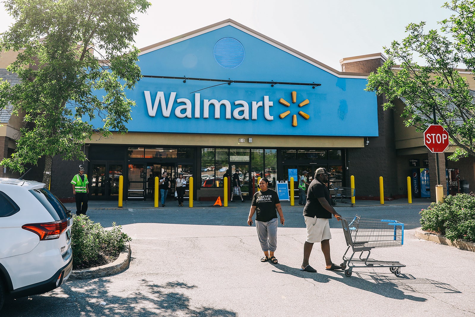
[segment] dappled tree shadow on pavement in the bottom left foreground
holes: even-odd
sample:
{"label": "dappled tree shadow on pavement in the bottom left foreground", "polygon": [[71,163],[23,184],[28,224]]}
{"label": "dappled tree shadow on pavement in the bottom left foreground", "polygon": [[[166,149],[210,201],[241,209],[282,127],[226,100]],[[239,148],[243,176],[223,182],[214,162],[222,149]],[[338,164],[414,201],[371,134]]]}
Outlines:
{"label": "dappled tree shadow on pavement in the bottom left foreground", "polygon": [[[66,282],[45,295],[19,298],[6,302],[1,316],[50,317],[61,312],[65,317],[99,316],[225,316],[235,317],[236,313],[213,307],[191,307],[190,298],[180,290],[197,288],[181,282],[169,282],[164,285],[152,284],[142,279],[141,289],[147,293],[133,290],[123,291],[123,296],[111,295],[106,278],[94,280],[76,280]],[[105,302],[105,305],[100,305]],[[56,312],[56,313],[55,313]]]}

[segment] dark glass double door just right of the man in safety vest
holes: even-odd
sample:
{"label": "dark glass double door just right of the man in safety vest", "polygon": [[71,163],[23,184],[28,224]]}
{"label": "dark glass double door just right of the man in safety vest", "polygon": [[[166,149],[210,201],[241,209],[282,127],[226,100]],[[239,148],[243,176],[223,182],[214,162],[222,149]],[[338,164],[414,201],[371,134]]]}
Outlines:
{"label": "dark glass double door just right of the man in safety vest", "polygon": [[119,176],[123,174],[120,163],[92,163],[90,178],[91,198],[115,199],[119,195]]}

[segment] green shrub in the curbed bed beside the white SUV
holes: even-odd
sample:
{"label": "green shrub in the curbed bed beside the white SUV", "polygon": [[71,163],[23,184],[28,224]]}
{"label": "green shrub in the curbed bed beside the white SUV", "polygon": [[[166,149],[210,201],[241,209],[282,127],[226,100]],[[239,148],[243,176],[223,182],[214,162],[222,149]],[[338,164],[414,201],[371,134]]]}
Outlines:
{"label": "green shrub in the curbed bed beside the white SUV", "polygon": [[106,230],[86,215],[75,215],[71,230],[73,269],[91,268],[116,259],[126,243],[132,240],[121,230],[122,226],[115,222],[110,230]]}

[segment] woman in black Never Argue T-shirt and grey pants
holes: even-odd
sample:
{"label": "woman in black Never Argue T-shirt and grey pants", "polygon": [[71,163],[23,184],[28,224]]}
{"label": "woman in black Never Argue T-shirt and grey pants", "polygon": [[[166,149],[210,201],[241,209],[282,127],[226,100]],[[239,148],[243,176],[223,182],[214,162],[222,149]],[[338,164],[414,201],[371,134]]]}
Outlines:
{"label": "woman in black Never Argue T-shirt and grey pants", "polygon": [[[280,216],[280,223],[284,225],[285,219],[282,214],[279,196],[277,192],[269,188],[267,178],[261,178],[259,182],[260,191],[256,192],[252,197],[251,209],[247,224],[252,225],[252,216],[256,213],[257,236],[264,251],[264,257],[261,262],[271,261],[277,264],[278,261],[274,256],[277,249],[277,212]],[[277,211],[277,212],[276,212]]]}

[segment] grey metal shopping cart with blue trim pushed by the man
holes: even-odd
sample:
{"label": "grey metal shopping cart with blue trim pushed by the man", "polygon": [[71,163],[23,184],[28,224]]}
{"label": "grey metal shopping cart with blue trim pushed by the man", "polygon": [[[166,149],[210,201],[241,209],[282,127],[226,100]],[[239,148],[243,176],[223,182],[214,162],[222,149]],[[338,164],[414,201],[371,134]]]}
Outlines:
{"label": "grey metal shopping cart with blue trim pushed by the man", "polygon": [[[342,268],[346,276],[352,275],[353,268],[390,268],[391,273],[396,276],[401,274],[401,269],[405,267],[397,261],[379,261],[370,259],[371,249],[399,247],[404,243],[404,223],[395,220],[363,219],[356,215],[350,223],[342,218],[343,233],[345,235],[346,249],[343,255]],[[353,254],[347,257],[346,254],[352,248]],[[360,252],[355,257],[356,252]],[[366,257],[364,252],[368,252]]]}

